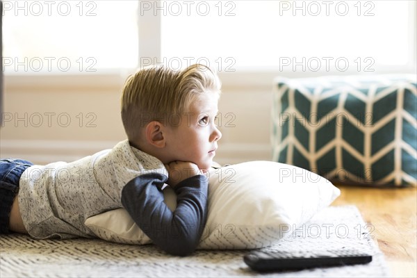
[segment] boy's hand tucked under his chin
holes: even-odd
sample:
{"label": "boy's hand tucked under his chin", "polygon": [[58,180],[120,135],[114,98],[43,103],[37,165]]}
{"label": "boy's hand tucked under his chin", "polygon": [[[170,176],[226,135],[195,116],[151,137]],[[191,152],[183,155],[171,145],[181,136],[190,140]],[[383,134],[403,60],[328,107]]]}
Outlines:
{"label": "boy's hand tucked under his chin", "polygon": [[172,161],[165,164],[168,171],[168,185],[175,187],[178,183],[197,174],[202,174],[197,165],[192,162]]}

